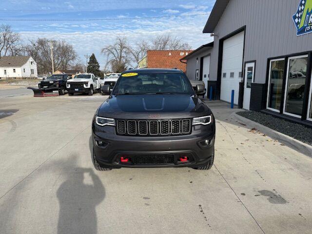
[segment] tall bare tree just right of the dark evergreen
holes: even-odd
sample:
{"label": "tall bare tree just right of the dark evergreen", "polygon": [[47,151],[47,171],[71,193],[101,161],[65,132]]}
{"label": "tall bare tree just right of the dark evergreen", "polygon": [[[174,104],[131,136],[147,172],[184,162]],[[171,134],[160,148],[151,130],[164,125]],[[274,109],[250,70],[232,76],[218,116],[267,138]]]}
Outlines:
{"label": "tall bare tree just right of the dark evergreen", "polygon": [[107,56],[107,65],[113,72],[123,72],[131,62],[131,53],[126,37],[117,37],[113,45],[108,45],[101,50]]}

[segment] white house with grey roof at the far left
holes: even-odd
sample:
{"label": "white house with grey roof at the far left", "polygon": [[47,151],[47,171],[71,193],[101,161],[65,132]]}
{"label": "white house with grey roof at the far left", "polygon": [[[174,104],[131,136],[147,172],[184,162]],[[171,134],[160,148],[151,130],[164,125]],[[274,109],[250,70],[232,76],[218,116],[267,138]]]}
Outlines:
{"label": "white house with grey roof at the far left", "polygon": [[31,56],[3,56],[0,58],[0,79],[37,77],[37,63]]}

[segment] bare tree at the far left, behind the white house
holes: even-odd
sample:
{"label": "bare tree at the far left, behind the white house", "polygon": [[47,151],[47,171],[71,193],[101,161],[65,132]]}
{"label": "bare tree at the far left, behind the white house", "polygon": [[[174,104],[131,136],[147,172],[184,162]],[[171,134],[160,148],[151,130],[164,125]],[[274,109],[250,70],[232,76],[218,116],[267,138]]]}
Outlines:
{"label": "bare tree at the far left, behind the white house", "polygon": [[10,25],[0,25],[0,57],[20,54],[20,42],[20,34],[13,32]]}

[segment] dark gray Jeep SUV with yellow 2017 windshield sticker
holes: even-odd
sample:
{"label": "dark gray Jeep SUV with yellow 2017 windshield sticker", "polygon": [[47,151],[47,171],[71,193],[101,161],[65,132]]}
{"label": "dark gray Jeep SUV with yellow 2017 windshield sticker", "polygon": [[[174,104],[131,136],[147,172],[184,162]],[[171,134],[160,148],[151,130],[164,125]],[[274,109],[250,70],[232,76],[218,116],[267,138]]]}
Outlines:
{"label": "dark gray Jeep SUV with yellow 2017 windshield sticker", "polygon": [[[92,123],[93,162],[120,167],[192,167],[208,170],[215,155],[215,117],[176,69],[123,72]],[[109,85],[102,86],[110,93]]]}

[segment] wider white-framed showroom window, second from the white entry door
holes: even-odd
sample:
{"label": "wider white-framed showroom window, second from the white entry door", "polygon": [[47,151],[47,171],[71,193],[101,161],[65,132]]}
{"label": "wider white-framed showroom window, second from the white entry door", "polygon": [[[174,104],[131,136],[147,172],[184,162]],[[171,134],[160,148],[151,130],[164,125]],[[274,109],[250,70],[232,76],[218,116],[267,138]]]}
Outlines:
{"label": "wider white-framed showroom window, second from the white entry door", "polygon": [[308,55],[288,59],[283,112],[286,115],[302,115],[307,68]]}

